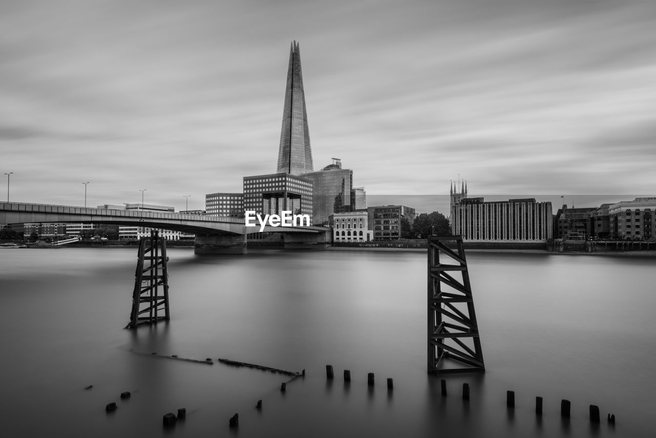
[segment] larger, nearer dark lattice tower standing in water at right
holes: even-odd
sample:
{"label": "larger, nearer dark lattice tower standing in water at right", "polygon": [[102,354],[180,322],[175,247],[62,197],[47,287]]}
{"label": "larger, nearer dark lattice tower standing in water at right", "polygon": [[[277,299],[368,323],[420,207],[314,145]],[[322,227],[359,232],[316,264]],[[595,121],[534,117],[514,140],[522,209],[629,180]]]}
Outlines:
{"label": "larger, nearer dark lattice tower standing in water at right", "polygon": [[428,372],[485,372],[462,236],[428,238]]}

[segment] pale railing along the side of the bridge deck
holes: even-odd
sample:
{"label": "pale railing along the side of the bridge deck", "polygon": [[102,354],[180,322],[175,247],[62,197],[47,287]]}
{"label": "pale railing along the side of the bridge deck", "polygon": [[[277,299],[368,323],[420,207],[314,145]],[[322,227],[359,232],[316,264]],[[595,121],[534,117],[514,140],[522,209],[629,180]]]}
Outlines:
{"label": "pale railing along the side of the bridge deck", "polygon": [[75,206],[54,206],[49,204],[28,204],[24,202],[0,202],[0,211],[25,211],[34,213],[63,213],[89,216],[138,217],[147,219],[172,219],[201,222],[232,222],[243,224],[241,217],[188,215],[162,211],[121,210],[113,208],[91,208]]}

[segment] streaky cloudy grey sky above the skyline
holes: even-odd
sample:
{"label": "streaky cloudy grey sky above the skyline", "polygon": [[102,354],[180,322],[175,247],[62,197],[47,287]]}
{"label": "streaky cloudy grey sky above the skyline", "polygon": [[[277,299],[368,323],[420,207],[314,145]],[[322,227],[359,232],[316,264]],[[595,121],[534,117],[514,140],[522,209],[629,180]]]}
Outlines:
{"label": "streaky cloudy grey sky above the skyline", "polygon": [[656,194],[651,0],[0,0],[10,200],[241,192],[276,171],[292,40],[315,170],[367,195]]}

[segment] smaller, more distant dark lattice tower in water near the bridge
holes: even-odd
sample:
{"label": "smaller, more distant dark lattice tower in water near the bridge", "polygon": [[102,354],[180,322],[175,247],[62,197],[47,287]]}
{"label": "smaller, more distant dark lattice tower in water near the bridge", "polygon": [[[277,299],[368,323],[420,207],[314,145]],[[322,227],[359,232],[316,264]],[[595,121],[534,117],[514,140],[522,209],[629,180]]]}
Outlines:
{"label": "smaller, more distant dark lattice tower in water near the bridge", "polygon": [[160,237],[158,231],[151,231],[150,238],[141,238],[134,273],[132,313],[125,328],[169,319],[168,260],[166,239]]}

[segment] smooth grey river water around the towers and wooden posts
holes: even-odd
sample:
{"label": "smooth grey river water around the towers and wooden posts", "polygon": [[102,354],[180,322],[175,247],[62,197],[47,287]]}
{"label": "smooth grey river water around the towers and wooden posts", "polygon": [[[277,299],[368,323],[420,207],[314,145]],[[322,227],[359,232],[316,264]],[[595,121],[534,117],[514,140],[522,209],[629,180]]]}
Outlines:
{"label": "smooth grey river water around the towers and wooden posts", "polygon": [[[654,259],[468,253],[487,372],[449,376],[444,398],[425,370],[424,252],[169,257],[172,320],[134,332],[123,326],[135,249],[0,250],[1,437],[653,436]],[[152,351],[306,378],[281,393],[280,374],[137,354]],[[572,402],[569,422],[561,399]],[[601,408],[598,427],[590,404]],[[163,414],[180,407],[186,422],[163,429]]]}

